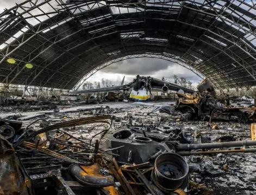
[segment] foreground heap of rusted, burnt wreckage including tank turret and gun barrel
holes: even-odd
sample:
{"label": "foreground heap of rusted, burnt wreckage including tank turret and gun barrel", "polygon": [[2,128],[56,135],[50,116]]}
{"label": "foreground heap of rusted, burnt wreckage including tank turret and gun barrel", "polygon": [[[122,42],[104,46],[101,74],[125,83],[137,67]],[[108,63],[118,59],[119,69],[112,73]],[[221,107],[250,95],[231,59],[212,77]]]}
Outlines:
{"label": "foreground heap of rusted, burnt wreckage including tank turret and gun barrel", "polygon": [[[35,131],[32,125],[40,121],[45,127]],[[1,123],[2,194],[186,194],[195,168],[189,156],[256,152],[254,139],[213,143],[183,126],[112,129],[110,115],[55,125],[36,120],[26,128],[19,121]],[[98,123],[103,131],[88,140],[62,130]]]}

